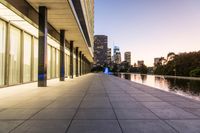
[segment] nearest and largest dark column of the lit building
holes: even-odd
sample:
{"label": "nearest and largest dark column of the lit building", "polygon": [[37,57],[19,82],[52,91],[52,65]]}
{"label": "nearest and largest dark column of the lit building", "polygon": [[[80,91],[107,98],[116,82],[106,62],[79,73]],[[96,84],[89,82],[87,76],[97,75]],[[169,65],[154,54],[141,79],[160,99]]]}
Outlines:
{"label": "nearest and largest dark column of the lit building", "polygon": [[47,8],[39,7],[38,87],[47,86]]}

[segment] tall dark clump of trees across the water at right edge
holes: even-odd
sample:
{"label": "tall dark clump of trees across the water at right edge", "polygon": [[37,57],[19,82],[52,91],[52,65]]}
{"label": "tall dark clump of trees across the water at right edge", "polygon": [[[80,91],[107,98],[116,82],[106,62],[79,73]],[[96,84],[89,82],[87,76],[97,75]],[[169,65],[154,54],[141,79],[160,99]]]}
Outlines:
{"label": "tall dark clump of trees across the water at right edge", "polygon": [[200,77],[200,51],[179,54],[170,52],[167,58],[161,57],[154,65],[154,74]]}

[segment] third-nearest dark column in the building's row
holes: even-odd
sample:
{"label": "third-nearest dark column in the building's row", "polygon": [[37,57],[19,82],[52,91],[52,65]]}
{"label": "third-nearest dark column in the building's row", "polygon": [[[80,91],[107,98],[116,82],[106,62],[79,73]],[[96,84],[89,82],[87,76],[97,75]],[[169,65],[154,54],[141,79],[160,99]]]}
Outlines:
{"label": "third-nearest dark column in the building's row", "polygon": [[74,76],[74,41],[70,41],[70,77]]}

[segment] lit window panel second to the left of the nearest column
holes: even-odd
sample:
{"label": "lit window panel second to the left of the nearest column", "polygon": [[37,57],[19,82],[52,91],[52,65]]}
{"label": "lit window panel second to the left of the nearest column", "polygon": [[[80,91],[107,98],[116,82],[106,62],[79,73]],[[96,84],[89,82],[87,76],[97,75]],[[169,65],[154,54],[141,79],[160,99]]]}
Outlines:
{"label": "lit window panel second to the left of the nearest column", "polygon": [[23,82],[31,81],[31,43],[31,36],[24,33]]}

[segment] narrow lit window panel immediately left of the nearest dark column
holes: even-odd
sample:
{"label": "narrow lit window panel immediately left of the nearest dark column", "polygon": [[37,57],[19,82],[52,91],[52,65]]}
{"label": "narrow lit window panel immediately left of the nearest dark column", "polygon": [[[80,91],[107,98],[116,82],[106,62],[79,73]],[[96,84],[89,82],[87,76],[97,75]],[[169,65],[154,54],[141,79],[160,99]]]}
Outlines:
{"label": "narrow lit window panel immediately left of the nearest dark column", "polygon": [[38,80],[38,39],[34,38],[33,80]]}

